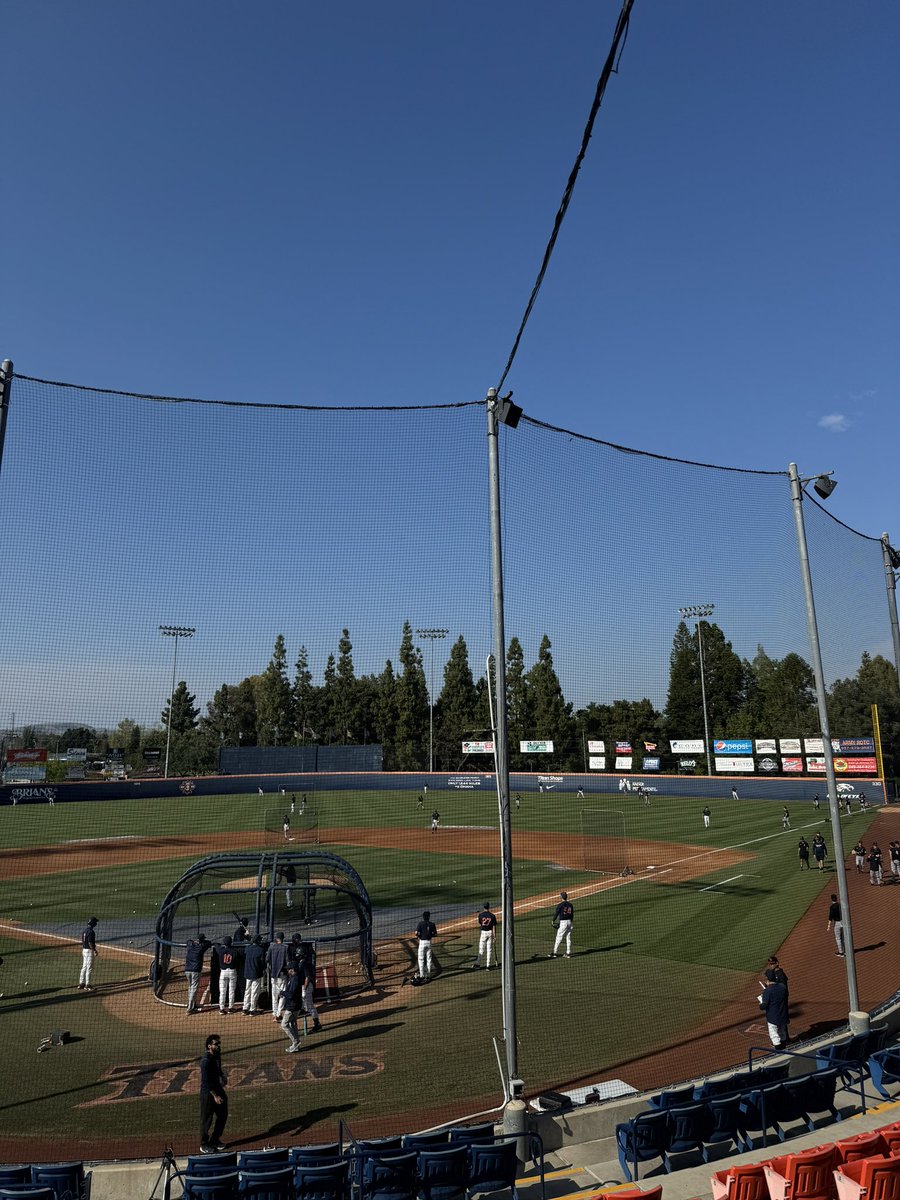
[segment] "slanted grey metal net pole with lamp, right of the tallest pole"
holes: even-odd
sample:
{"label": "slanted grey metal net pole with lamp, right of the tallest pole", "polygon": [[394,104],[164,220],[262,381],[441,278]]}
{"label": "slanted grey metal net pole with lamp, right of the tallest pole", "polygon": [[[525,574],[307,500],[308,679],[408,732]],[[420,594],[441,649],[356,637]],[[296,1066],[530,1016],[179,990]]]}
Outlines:
{"label": "slanted grey metal net pole with lamp, right of the tallest pole", "polygon": [[826,695],[824,671],[822,668],[822,647],[818,641],[816,600],[812,594],[812,574],[809,566],[806,524],[803,520],[804,485],[812,484],[816,494],[823,500],[832,494],[838,485],[830,478],[832,472],[827,472],[823,475],[811,475],[809,479],[800,479],[796,462],[788,464],[787,475],[791,480],[791,503],[793,506],[794,527],[797,529],[797,550],[800,559],[800,575],[803,576],[803,593],[806,601],[806,628],[809,630],[810,649],[812,652],[812,674],[816,678],[816,706],[818,708],[818,724],[822,731],[822,755],[824,757],[826,780],[828,782],[828,809],[832,815],[832,841],[834,844],[834,863],[838,872],[838,895],[841,904],[841,917],[844,918],[844,962],[847,968],[847,997],[850,1000],[850,1012],[852,1014],[859,1012],[857,966],[856,958],[853,955],[853,925],[850,913],[847,874],[844,870],[844,835],[841,833],[840,809],[838,808],[838,784],[834,778],[832,730],[828,721],[828,700]]}

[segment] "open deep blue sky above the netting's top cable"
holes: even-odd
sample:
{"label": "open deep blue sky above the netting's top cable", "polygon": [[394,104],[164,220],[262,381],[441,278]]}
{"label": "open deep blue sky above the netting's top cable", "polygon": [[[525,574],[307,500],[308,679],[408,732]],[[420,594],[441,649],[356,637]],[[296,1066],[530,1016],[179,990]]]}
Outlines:
{"label": "open deep blue sky above the netting's top cable", "polygon": [[[12,0],[0,355],[181,396],[481,398],[618,11]],[[830,510],[900,542],[898,61],[888,0],[637,0],[508,380],[524,410],[834,468]]]}

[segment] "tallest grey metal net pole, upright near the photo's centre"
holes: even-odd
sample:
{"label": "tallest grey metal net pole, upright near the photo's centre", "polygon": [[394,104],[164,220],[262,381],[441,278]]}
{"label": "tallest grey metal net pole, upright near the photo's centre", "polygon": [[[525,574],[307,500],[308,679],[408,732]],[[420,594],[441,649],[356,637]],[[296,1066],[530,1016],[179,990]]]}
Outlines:
{"label": "tallest grey metal net pole, upright near the photo's centre", "polygon": [[509,752],[506,732],[506,635],[503,619],[503,546],[500,536],[500,456],[498,410],[494,388],[487,392],[487,458],[491,503],[491,593],[494,648],[494,756],[497,796],[500,814],[500,888],[503,902],[503,1039],[506,1046],[506,1098],[511,1081],[518,1079],[516,1033],[516,940],[512,895],[512,820],[509,804]]}

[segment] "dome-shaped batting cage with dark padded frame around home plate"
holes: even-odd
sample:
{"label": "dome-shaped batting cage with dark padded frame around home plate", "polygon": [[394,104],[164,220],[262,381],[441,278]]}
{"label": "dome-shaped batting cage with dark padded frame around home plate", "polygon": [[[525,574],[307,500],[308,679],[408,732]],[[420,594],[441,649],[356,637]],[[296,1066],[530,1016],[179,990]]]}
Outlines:
{"label": "dome-shaped batting cage with dark padded frame around home plate", "polygon": [[[344,859],[320,851],[211,854],[194,863],[168,893],[156,920],[150,983],[166,1004],[187,1006],[185,954],[192,938],[233,940],[241,979],[241,947],[284,932],[313,949],[317,997],[337,1001],[372,984],[372,905]],[[269,989],[265,989],[268,994]],[[210,948],[198,989],[200,1003],[218,998],[217,959]]]}

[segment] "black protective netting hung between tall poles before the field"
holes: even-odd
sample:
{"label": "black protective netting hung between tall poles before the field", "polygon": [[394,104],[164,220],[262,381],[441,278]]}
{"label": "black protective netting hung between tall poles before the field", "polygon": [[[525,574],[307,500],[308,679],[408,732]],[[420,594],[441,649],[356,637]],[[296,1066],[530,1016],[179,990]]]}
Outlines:
{"label": "black protective netting hung between tall poles before the field", "polygon": [[[11,923],[2,936],[17,941],[2,941],[2,953],[5,971],[10,961],[18,970],[12,946],[34,955],[30,983],[46,988],[43,1007],[13,1014],[12,1043],[30,1046],[47,1020],[72,1024],[80,930],[89,913],[100,918],[95,979],[108,994],[79,1010],[98,1057],[70,1060],[72,1086],[97,1104],[83,1120],[78,1109],[67,1116],[79,1135],[122,1132],[118,1110],[100,1106],[102,1072],[196,1056],[196,1025],[179,1025],[181,1012],[158,1004],[146,982],[175,881],[206,856],[302,854],[313,840],[365,882],[376,968],[374,989],[352,1006],[323,1006],[324,1036],[290,1067],[308,1072],[290,1079],[316,1079],[308,1106],[325,1116],[310,1136],[326,1140],[334,1112],[374,1132],[498,1098],[499,972],[473,972],[475,912],[485,901],[497,911],[500,893],[484,748],[485,406],[277,408],[281,397],[257,396],[252,383],[245,398],[253,404],[13,383],[0,475],[0,724],[7,751],[43,757],[13,756],[7,769],[0,901]],[[827,816],[814,809],[824,778],[812,751],[780,744],[799,748],[818,732],[809,679],[791,682],[808,668],[779,674],[792,655],[810,661],[787,464],[668,461],[527,416],[500,431],[499,446],[505,631],[520,654],[510,653],[508,684],[522,1075],[529,1092],[602,1079],[661,1085],[667,1051],[755,986],[840,863],[832,847],[830,874],[796,870],[798,830],[811,838]],[[853,682],[871,660],[890,757],[900,703],[881,546],[814,502],[804,514],[827,685],[846,682],[833,732],[872,736],[875,685]],[[714,766],[707,778],[703,750],[671,749],[703,738],[696,625],[680,614],[692,605],[714,605],[710,738],[751,742],[746,770]],[[194,632],[173,644],[161,625]],[[160,779],[161,714],[182,682],[194,709],[173,731],[173,782]],[[289,696],[278,708],[281,683]],[[617,743],[629,745],[622,769]],[[287,748],[293,757],[280,758]],[[791,772],[788,758],[799,763]],[[13,808],[8,776],[29,770],[47,791],[25,787]],[[38,803],[49,793],[53,809]],[[846,820],[864,832],[870,818]],[[306,904],[311,886],[299,881],[289,904],[283,876],[260,889],[252,875],[229,875],[204,896],[186,888],[167,935],[172,978],[188,934],[220,937],[248,904],[254,916],[262,905],[266,936],[282,923],[323,947],[356,935],[354,913]],[[548,962],[563,888],[576,906],[574,958]],[[407,988],[425,910],[438,925],[436,979]],[[48,946],[62,965],[50,966]],[[367,983],[358,954],[332,966],[338,982],[347,967],[354,985]],[[748,1022],[756,1019],[754,1009]],[[271,1022],[229,1044],[259,1088],[252,1116],[235,1105],[248,1141],[283,1128],[283,1050]],[[155,1094],[167,1098],[142,1127],[157,1128],[161,1114],[160,1129],[187,1138],[196,1097],[166,1081]],[[46,1102],[32,1099],[35,1120],[53,1128]],[[20,1111],[7,1114],[16,1133],[31,1120]]]}

